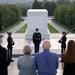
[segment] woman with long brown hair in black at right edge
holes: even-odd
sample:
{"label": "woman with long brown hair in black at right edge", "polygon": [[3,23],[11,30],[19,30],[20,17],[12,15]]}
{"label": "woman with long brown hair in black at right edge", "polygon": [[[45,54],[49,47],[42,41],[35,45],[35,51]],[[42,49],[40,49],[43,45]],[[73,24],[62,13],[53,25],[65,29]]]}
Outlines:
{"label": "woman with long brown hair in black at right edge", "polygon": [[62,55],[63,75],[75,75],[75,41],[69,40],[66,52]]}

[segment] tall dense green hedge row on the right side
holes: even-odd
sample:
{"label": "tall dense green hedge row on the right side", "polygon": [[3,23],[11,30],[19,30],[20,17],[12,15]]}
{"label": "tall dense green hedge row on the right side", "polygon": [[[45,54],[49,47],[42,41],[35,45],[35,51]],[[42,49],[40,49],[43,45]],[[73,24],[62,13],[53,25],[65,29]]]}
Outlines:
{"label": "tall dense green hedge row on the right side", "polygon": [[61,5],[55,9],[55,20],[69,28],[75,27],[75,4]]}

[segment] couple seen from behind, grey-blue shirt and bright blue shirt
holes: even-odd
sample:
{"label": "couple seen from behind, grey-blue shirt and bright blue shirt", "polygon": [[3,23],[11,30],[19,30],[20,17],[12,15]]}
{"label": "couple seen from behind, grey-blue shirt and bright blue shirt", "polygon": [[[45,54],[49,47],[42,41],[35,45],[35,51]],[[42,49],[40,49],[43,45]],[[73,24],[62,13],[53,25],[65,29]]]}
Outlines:
{"label": "couple seen from behind, grey-blue shirt and bright blue shirt", "polygon": [[37,52],[35,56],[31,56],[31,46],[24,47],[24,56],[20,56],[17,62],[19,75],[56,75],[58,55],[50,52],[49,40],[44,40],[42,47],[43,52]]}

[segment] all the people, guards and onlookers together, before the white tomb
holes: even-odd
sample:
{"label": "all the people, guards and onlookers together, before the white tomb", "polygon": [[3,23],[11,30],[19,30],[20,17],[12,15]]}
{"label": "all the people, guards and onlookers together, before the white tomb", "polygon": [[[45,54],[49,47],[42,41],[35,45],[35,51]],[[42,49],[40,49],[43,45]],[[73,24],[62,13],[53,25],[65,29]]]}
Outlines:
{"label": "all the people, guards and onlookers together, before the white tomb", "polygon": [[[32,48],[30,45],[26,45],[23,48],[23,56],[20,56],[17,61],[17,68],[19,75],[56,75],[59,67],[59,57],[57,53],[50,51],[51,42],[48,39],[43,41],[43,52],[39,52],[39,46],[41,43],[41,33],[33,33],[33,43],[35,49],[35,55],[32,56]],[[69,40],[66,46],[66,35],[69,32],[63,32],[62,37],[59,40],[61,43],[61,63],[63,74],[62,75],[75,75],[75,41]],[[0,36],[0,75],[8,75],[7,68],[12,62],[12,48],[14,41],[11,37],[11,33],[7,33],[7,49],[1,46],[2,37]],[[11,44],[9,44],[11,43]],[[8,52],[7,52],[8,51]]]}

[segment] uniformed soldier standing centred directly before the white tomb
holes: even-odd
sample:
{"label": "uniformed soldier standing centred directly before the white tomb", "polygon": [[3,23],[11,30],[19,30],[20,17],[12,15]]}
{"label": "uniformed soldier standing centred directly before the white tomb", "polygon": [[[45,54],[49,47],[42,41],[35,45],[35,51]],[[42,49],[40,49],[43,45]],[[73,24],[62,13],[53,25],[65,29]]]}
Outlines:
{"label": "uniformed soldier standing centred directly before the white tomb", "polygon": [[41,33],[38,31],[39,29],[36,28],[36,32],[33,33],[33,43],[34,43],[35,53],[39,52],[39,46],[41,43]]}

